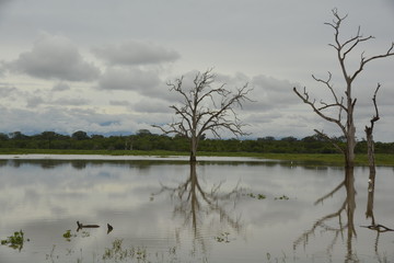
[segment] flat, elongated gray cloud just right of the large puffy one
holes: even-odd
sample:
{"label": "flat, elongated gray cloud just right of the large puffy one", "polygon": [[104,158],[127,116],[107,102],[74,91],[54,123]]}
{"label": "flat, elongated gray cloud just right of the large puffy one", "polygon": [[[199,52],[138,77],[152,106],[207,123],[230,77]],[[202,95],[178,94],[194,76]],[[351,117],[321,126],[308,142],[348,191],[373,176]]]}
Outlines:
{"label": "flat, elongated gray cloud just right of the large puffy one", "polygon": [[121,45],[94,47],[92,52],[109,65],[154,65],[172,62],[181,57],[175,50],[153,43],[136,41]]}

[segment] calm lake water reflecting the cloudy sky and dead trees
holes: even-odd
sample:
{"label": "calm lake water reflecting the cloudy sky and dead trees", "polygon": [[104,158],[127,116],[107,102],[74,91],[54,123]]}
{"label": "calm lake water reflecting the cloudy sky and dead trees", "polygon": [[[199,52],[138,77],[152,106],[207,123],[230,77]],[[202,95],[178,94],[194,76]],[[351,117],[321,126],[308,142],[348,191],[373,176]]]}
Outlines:
{"label": "calm lake water reflecting the cloudy sky and dead trees", "polygon": [[1,263],[394,262],[393,168],[1,158]]}

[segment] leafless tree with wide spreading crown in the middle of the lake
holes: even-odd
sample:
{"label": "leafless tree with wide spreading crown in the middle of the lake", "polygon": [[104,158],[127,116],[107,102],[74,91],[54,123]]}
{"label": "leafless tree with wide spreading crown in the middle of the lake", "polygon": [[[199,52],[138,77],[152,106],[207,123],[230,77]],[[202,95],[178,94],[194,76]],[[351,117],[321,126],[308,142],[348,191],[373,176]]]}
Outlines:
{"label": "leafless tree with wide spreading crown in the middle of the lake", "polygon": [[243,124],[235,113],[235,107],[242,108],[252,90],[247,83],[232,92],[225,84],[213,87],[217,76],[212,69],[198,72],[192,89],[184,87],[184,77],[169,82],[170,91],[177,92],[182,98],[181,105],[170,106],[178,116],[166,126],[153,125],[165,134],[175,134],[190,140],[190,161],[196,161],[198,144],[207,132],[220,138],[221,130],[229,130],[236,137],[247,135],[243,132]]}

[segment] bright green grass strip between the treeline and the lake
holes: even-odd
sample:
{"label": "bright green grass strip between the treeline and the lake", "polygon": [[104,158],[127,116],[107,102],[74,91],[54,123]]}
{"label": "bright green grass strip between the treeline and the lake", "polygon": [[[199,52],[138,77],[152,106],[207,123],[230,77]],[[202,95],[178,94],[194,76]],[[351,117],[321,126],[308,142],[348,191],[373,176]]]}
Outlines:
{"label": "bright green grass strip between the treeline and the lake", "polygon": [[[0,155],[101,155],[101,156],[188,156],[188,152],[165,150],[57,150],[57,149],[3,149]],[[260,153],[260,152],[208,152],[199,151],[198,156],[205,157],[254,157],[271,160],[293,162],[315,162],[316,164],[343,165],[344,157],[333,153]],[[197,157],[198,159],[198,157]],[[376,165],[394,167],[394,155],[378,153]],[[368,165],[367,155],[356,155],[356,165]]]}

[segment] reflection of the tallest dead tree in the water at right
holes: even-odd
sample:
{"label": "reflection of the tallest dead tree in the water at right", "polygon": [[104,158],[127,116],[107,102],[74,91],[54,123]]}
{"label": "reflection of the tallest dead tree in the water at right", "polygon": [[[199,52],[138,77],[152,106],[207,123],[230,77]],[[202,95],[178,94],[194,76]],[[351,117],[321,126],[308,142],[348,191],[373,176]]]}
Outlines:
{"label": "reflection of the tallest dead tree in the water at right", "polygon": [[[315,233],[317,229],[323,229],[323,232],[333,232],[334,239],[327,247],[327,253],[331,253],[331,251],[334,248],[334,244],[336,243],[338,237],[344,238],[344,231],[347,229],[347,256],[348,259],[355,258],[352,252],[352,237],[357,236],[355,224],[354,224],[354,215],[356,209],[356,190],[355,190],[355,176],[354,176],[354,170],[352,169],[346,169],[345,180],[338,184],[333,191],[331,191],[328,194],[322,196],[318,198],[314,205],[317,205],[320,203],[323,203],[326,198],[332,197],[335,193],[337,193],[341,187],[346,187],[346,199],[344,201],[343,205],[339,207],[338,210],[328,214],[318,220],[316,220],[312,228],[306,230],[303,235],[301,235],[294,242],[293,242],[293,249],[296,250],[297,247],[300,243],[303,243],[305,247],[309,242],[309,239],[311,236]],[[343,224],[343,213],[346,211],[347,215],[347,224]],[[338,226],[337,227],[331,227],[328,226],[328,222],[331,219],[338,218]]]}

